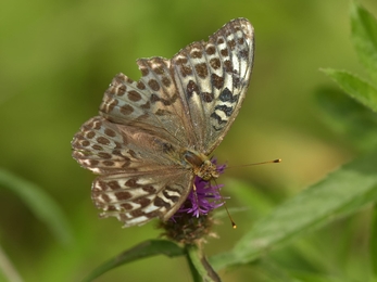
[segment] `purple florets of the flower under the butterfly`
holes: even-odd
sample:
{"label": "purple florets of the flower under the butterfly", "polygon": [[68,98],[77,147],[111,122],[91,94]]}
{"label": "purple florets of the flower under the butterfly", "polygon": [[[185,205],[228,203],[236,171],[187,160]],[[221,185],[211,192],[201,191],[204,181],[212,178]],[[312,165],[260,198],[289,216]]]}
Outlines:
{"label": "purple florets of the flower under the butterfly", "polygon": [[[226,165],[218,165],[215,158],[211,161],[216,165],[219,174],[224,172]],[[193,184],[196,191],[192,189],[185,203],[180,206],[177,213],[171,218],[175,221],[180,214],[191,214],[193,217],[200,215],[208,215],[211,210],[224,205],[224,197],[221,196],[219,190],[223,184],[211,185],[210,181],[205,181],[200,177],[196,177]]]}

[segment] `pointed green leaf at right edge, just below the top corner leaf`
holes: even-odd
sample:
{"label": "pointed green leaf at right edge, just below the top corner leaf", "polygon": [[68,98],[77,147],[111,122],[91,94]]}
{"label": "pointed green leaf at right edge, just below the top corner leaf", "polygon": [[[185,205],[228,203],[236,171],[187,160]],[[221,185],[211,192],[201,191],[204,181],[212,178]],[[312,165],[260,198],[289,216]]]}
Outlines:
{"label": "pointed green leaf at right edge, just below the top corner leaf", "polygon": [[332,78],[350,97],[377,112],[377,89],[374,86],[344,70],[331,68],[322,70]]}

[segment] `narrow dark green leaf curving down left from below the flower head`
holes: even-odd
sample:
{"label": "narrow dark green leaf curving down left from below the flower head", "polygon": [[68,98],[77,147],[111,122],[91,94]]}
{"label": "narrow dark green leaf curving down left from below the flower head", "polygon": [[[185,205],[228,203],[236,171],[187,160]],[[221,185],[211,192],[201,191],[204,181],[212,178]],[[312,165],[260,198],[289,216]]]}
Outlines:
{"label": "narrow dark green leaf curving down left from below the flower head", "polygon": [[177,244],[166,241],[166,240],[150,240],[139,245],[120,254],[118,256],[108,260],[98,268],[96,268],[89,275],[87,275],[83,282],[89,282],[100,277],[101,274],[108,272],[109,270],[141,259],[146,257],[151,257],[155,255],[165,255],[168,257],[176,257],[185,255],[185,249]]}

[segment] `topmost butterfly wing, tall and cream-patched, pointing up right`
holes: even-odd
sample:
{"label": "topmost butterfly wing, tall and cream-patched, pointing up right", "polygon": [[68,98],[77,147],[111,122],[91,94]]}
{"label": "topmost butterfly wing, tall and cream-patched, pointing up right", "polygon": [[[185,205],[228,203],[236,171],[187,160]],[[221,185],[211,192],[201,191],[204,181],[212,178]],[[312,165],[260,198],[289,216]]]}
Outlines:
{"label": "topmost butterfly wing, tall and cream-patched, pointing up right", "polygon": [[253,64],[253,28],[244,18],[229,22],[173,57],[177,88],[194,125],[196,149],[205,155],[223,140],[244,99]]}

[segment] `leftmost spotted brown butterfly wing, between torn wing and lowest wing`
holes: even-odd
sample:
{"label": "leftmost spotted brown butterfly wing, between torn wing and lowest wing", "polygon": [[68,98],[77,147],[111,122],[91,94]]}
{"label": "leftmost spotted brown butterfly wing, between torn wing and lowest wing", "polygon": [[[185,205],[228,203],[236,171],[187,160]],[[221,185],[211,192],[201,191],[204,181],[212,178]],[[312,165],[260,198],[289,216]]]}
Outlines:
{"label": "leftmost spotted brown butterfly wing, between torn wing and lowest wing", "polygon": [[113,124],[100,116],[85,123],[72,144],[78,163],[100,175],[188,169],[181,165],[180,148],[153,132]]}

